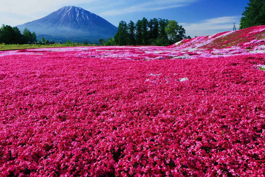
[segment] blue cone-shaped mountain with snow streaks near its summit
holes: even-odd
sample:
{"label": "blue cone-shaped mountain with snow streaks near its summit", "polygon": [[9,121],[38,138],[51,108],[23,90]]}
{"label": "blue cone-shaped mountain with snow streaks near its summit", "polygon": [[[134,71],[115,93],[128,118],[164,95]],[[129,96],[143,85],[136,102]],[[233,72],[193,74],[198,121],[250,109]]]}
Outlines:
{"label": "blue cone-shaped mountain with snow streaks near its summit", "polygon": [[35,32],[37,40],[42,37],[55,42],[98,43],[99,39],[113,38],[118,28],[100,16],[81,7],[65,6],[41,19],[16,26],[23,31]]}

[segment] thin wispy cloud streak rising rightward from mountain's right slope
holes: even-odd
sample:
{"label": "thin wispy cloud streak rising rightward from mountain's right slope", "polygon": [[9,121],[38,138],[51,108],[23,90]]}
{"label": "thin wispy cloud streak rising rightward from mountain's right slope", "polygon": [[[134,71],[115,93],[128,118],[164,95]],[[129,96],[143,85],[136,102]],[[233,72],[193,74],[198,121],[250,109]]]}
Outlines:
{"label": "thin wispy cloud streak rising rightward from mountain's right slope", "polygon": [[153,0],[145,3],[138,3],[133,6],[127,6],[123,8],[116,8],[114,10],[105,11],[100,15],[121,15],[133,12],[163,10],[169,8],[188,6],[192,2],[196,1],[198,0],[164,0],[164,1]]}

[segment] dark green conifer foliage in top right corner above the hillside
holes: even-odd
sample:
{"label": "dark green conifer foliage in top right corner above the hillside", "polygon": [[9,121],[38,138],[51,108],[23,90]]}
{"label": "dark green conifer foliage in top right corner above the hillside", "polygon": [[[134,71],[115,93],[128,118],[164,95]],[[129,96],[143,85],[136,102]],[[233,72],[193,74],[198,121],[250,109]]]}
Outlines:
{"label": "dark green conifer foliage in top right corner above the hillside", "polygon": [[249,0],[242,13],[239,29],[256,25],[265,25],[265,0]]}

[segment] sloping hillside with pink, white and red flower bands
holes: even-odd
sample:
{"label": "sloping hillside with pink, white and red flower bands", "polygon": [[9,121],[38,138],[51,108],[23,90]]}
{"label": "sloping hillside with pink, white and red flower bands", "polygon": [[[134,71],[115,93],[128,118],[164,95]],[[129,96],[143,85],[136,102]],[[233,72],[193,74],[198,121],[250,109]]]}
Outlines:
{"label": "sloping hillside with pink, white and red flower bands", "polygon": [[246,51],[265,50],[265,25],[218,33],[211,36],[184,39],[170,47],[175,47],[176,49],[195,48],[207,50],[237,47]]}

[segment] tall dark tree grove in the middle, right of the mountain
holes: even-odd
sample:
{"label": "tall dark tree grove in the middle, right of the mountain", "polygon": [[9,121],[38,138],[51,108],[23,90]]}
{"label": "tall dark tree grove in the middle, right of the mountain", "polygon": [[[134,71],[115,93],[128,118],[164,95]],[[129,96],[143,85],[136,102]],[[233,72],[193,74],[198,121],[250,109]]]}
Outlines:
{"label": "tall dark tree grove in the middle, right of the mountain", "polygon": [[118,31],[114,38],[108,38],[107,41],[101,39],[102,45],[156,45],[167,46],[175,42],[183,40],[183,38],[191,38],[185,36],[185,29],[182,25],[178,25],[175,20],[151,19],[146,18],[138,20],[136,23],[130,21],[127,24],[121,21]]}

